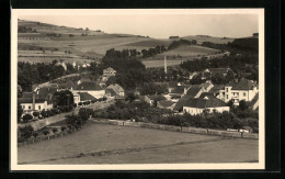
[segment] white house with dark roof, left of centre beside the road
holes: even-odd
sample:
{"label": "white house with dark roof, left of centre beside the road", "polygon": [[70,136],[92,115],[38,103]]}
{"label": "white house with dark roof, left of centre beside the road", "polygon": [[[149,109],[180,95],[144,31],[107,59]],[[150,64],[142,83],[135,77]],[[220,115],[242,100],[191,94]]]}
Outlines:
{"label": "white house with dark roof, left of centre beside the road", "polygon": [[105,96],[105,90],[93,81],[83,81],[78,85],[73,90],[73,92],[88,92],[96,99],[103,98]]}

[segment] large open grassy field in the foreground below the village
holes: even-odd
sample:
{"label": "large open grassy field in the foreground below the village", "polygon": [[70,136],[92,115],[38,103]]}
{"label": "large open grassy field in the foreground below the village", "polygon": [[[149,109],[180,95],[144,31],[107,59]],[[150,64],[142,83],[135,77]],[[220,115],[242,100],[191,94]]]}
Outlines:
{"label": "large open grassy field in the foreground below the village", "polygon": [[90,124],[67,135],[18,149],[24,164],[255,163],[258,141]]}

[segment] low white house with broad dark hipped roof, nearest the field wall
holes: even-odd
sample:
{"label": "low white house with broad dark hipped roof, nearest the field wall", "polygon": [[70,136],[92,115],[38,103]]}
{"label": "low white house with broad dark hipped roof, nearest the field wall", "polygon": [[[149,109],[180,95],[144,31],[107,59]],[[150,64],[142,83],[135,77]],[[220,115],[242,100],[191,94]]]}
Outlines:
{"label": "low white house with broad dark hipped roof, nearest the field wall", "polygon": [[183,112],[190,113],[191,115],[197,115],[207,110],[209,113],[214,111],[223,113],[225,111],[229,112],[229,107],[221,100],[215,97],[204,97],[204,98],[191,98],[183,104]]}

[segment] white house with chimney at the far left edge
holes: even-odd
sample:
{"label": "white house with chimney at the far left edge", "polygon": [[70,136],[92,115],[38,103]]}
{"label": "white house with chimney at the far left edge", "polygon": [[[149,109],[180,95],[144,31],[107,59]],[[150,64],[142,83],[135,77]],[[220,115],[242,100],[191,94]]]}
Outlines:
{"label": "white house with chimney at the far left edge", "polygon": [[34,111],[53,109],[53,102],[46,99],[36,99],[35,93],[32,98],[19,98],[18,102],[23,109],[23,113],[32,114]]}

